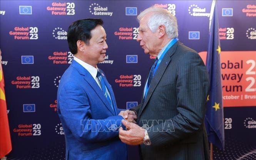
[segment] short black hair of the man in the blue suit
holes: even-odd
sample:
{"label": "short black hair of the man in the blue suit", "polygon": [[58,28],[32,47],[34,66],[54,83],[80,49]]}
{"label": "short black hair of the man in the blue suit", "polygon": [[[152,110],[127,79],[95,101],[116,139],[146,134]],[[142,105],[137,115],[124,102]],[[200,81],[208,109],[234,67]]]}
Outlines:
{"label": "short black hair of the man in the blue suit", "polygon": [[81,40],[89,45],[90,38],[92,38],[91,30],[97,25],[103,25],[102,19],[82,19],[73,22],[69,26],[67,32],[67,42],[69,43],[69,50],[72,54],[77,53],[77,41]]}

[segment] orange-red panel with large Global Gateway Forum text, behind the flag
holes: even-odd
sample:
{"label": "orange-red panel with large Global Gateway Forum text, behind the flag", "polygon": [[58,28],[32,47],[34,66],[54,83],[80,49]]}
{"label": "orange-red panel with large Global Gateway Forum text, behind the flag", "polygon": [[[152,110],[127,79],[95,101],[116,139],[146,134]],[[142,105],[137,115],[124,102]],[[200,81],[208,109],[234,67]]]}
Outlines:
{"label": "orange-red panel with large Global Gateway Forum text, behind the flag", "polygon": [[224,107],[256,106],[256,51],[221,51],[221,78]]}

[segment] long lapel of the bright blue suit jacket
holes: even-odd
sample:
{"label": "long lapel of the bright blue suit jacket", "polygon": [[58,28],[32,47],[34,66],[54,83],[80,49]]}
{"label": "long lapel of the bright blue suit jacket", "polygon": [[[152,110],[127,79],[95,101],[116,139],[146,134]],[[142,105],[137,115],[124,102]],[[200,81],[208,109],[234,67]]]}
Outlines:
{"label": "long lapel of the bright blue suit jacket", "polygon": [[[100,100],[105,104],[105,106],[108,108],[108,110],[113,114],[116,115],[115,112],[112,110],[111,105],[107,101],[107,98],[105,97],[104,93],[100,89],[99,85],[95,81],[95,79],[92,77],[92,75],[84,68],[82,65],[77,63],[75,60],[72,61],[72,67],[74,67],[81,76],[84,76],[84,80],[92,87],[92,89],[97,93]],[[105,77],[104,77],[105,78]],[[97,98],[97,97],[95,97]],[[112,97],[111,97],[112,98]]]}

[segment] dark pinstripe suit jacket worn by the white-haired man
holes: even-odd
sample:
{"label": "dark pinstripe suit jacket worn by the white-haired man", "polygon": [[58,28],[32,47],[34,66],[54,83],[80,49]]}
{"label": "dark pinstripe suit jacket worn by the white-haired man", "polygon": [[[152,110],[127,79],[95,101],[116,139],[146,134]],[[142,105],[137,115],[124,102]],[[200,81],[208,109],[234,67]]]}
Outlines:
{"label": "dark pinstripe suit jacket worn by the white-haired man", "polygon": [[209,159],[204,128],[208,91],[208,73],[201,57],[176,42],[160,63],[144,104],[133,108],[137,124],[150,127],[152,145],[140,145],[142,159]]}

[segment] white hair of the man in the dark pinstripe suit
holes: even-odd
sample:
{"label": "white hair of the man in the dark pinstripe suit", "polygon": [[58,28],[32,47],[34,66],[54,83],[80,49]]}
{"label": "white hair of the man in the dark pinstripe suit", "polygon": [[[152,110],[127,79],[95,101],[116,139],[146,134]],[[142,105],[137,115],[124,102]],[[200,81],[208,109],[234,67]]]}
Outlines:
{"label": "white hair of the man in the dark pinstripe suit", "polygon": [[148,18],[147,25],[153,33],[156,32],[159,25],[164,25],[166,27],[166,34],[168,38],[172,39],[178,37],[177,19],[174,15],[166,9],[152,6],[142,11],[137,16],[137,19],[140,21],[148,13],[151,13],[151,16]]}

